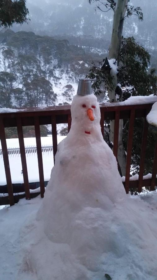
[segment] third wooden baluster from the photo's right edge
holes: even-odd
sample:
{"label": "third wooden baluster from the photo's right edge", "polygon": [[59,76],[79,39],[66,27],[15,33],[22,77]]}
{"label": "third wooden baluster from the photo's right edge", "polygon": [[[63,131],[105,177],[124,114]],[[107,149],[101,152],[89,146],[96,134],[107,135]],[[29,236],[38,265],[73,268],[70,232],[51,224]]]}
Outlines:
{"label": "third wooden baluster from the photo's right edge", "polygon": [[127,194],[129,193],[129,178],[130,178],[134,121],[135,121],[135,109],[131,110],[130,121],[129,121],[127,164],[126,164],[126,175],[125,175],[125,191]]}

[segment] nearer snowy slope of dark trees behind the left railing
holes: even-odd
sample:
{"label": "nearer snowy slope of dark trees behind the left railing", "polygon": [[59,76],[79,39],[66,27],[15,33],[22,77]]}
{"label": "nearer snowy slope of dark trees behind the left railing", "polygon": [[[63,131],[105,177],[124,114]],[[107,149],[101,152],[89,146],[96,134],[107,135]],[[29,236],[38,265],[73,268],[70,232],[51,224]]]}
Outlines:
{"label": "nearer snowy slope of dark trees behind the left railing", "polygon": [[[68,40],[33,32],[4,29],[0,43],[0,107],[68,104],[74,94],[72,84],[87,75],[92,60],[103,59],[102,54],[70,45]],[[62,102],[57,99],[56,88],[62,90]]]}

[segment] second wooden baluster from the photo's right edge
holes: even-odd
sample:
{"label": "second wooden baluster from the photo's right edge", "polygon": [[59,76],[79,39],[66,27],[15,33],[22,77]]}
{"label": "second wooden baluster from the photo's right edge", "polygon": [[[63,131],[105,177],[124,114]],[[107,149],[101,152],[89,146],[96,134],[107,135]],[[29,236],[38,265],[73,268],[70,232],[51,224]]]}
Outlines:
{"label": "second wooden baluster from the photo's right edge", "polygon": [[138,177],[138,192],[141,193],[143,186],[143,173],[144,173],[144,161],[146,155],[146,143],[147,143],[147,134],[148,134],[148,123],[145,118],[144,127],[143,127],[143,138],[142,138],[142,146],[141,146],[141,157],[140,157],[140,170]]}

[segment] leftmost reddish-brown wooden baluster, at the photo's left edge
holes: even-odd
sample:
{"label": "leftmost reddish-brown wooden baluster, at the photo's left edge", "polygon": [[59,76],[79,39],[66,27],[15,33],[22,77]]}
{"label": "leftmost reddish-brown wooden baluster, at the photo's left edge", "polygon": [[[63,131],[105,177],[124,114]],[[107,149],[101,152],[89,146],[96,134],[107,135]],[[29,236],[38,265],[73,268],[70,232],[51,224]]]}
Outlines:
{"label": "leftmost reddish-brown wooden baluster, at the photo's left edge", "polygon": [[6,142],[5,130],[4,130],[4,124],[3,124],[2,118],[0,118],[0,138],[1,138],[1,145],[2,145],[4,168],[5,168],[5,173],[6,173],[9,203],[10,203],[10,206],[12,206],[12,205],[14,205],[14,195],[13,195],[12,182],[11,182],[11,173],[10,173],[10,166],[9,166],[7,142]]}

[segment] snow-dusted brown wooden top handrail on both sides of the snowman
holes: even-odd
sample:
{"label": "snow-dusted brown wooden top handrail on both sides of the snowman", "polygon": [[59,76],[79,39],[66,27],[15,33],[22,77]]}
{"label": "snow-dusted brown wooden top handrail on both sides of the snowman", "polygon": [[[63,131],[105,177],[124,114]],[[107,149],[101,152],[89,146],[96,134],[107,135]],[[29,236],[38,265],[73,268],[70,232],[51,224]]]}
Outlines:
{"label": "snow-dusted brown wooden top handrail on both sides of the snowman", "polygon": [[[121,103],[121,102],[119,102]],[[137,104],[137,105],[113,105],[115,103],[106,103],[100,106],[101,114],[104,114],[105,120],[115,119],[115,112],[120,111],[119,119],[129,119],[130,111],[135,110],[135,118],[146,116],[153,103]],[[16,118],[22,118],[22,126],[34,125],[34,117],[39,117],[39,124],[51,124],[51,116],[56,116],[56,124],[67,124],[68,115],[71,115],[70,105],[52,106],[47,108],[29,108],[18,110],[17,112],[0,113],[0,117],[4,119],[4,127],[15,127]],[[148,114],[148,113],[147,113]]]}

